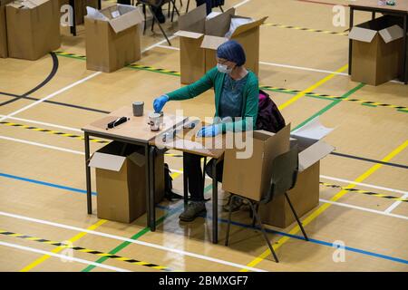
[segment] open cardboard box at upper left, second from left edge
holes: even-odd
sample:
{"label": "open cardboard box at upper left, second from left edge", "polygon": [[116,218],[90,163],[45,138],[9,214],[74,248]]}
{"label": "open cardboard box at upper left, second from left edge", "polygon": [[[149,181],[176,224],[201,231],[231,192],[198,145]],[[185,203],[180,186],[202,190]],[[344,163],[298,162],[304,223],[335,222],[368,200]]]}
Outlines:
{"label": "open cardboard box at upper left, second from left edge", "polygon": [[112,5],[85,16],[86,68],[114,72],[141,59],[140,7]]}

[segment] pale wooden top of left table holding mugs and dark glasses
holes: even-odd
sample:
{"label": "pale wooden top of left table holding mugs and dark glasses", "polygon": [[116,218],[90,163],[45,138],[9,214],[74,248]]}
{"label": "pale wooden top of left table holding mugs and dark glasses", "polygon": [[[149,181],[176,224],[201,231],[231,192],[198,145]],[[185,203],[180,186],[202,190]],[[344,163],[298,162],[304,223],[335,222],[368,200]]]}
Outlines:
{"label": "pale wooden top of left table holding mugs and dark glasses", "polygon": [[[82,128],[83,131],[90,134],[98,134],[107,139],[120,138],[124,140],[139,141],[142,143],[148,143],[162,134],[164,131],[171,130],[173,127],[181,126],[182,122],[186,119],[182,116],[175,116],[165,113],[162,118],[162,126],[160,131],[151,131],[148,124],[149,115],[152,111],[144,111],[143,116],[134,117],[131,106],[122,107],[116,111],[112,111],[106,117],[93,121]],[[122,123],[121,125],[106,130],[107,124],[111,121],[115,121],[121,117],[130,118],[129,121]]]}

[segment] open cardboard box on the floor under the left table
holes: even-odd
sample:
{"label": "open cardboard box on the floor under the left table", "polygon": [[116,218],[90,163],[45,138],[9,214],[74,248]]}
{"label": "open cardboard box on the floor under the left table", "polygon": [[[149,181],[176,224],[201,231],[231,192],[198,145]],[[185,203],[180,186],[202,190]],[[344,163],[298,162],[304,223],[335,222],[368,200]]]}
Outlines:
{"label": "open cardboard box on the floor under the left table", "polygon": [[[164,197],[164,155],[155,159],[155,201]],[[113,141],[93,153],[98,218],[131,223],[146,212],[144,149]]]}

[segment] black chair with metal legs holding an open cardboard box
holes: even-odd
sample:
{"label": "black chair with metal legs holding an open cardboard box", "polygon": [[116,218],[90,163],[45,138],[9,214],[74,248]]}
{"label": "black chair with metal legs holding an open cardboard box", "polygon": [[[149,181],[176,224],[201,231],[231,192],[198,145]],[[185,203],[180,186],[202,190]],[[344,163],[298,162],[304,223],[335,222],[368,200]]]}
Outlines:
{"label": "black chair with metal legs holding an open cardboard box", "polygon": [[[248,204],[251,208],[252,214],[253,214],[253,220],[252,220],[252,227],[255,226],[255,220],[257,220],[257,223],[262,231],[262,235],[267,241],[267,246],[270,249],[270,252],[275,258],[275,261],[278,263],[277,259],[277,254],[275,253],[274,248],[270,244],[269,239],[267,238],[267,232],[265,231],[265,227],[262,225],[262,221],[259,218],[259,214],[257,213],[257,209],[259,207],[259,204],[267,204],[270,202],[273,198],[285,195],[285,198],[287,198],[287,203],[289,204],[289,207],[292,209],[292,212],[296,218],[297,224],[299,225],[300,229],[302,230],[303,236],[305,237],[306,241],[309,240],[309,238],[306,235],[306,231],[302,226],[302,223],[300,222],[299,218],[297,217],[296,210],[293,208],[292,202],[290,201],[290,198],[287,195],[287,191],[290,189],[293,189],[296,185],[296,179],[297,179],[297,171],[298,171],[298,165],[299,165],[299,160],[298,160],[298,151],[297,147],[294,147],[291,150],[288,150],[286,153],[283,153],[281,155],[278,155],[275,160],[272,162],[272,178],[270,181],[270,188],[267,191],[267,194],[261,198],[261,200],[253,200],[250,198],[245,198],[236,194],[231,193],[231,198],[242,198],[246,201],[248,201]],[[231,202],[233,200],[231,199]],[[231,207],[229,207],[231,209]],[[230,228],[230,223],[231,223],[231,210],[229,210],[228,213],[228,227],[227,227],[227,236],[225,239],[225,246],[228,246],[228,237],[229,237],[229,228]]]}

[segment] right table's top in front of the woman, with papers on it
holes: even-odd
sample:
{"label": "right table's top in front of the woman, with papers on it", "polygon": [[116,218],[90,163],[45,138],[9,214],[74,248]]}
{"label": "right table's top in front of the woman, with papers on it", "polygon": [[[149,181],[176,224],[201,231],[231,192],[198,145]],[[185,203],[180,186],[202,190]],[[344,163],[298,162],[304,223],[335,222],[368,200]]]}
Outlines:
{"label": "right table's top in front of the woman, with papers on it", "polygon": [[182,129],[177,131],[176,137],[172,140],[163,141],[160,138],[151,140],[149,143],[153,146],[166,149],[180,150],[197,154],[203,157],[220,159],[224,155],[226,134],[219,134],[215,137],[201,138],[196,137],[197,131],[205,125],[201,122],[194,129]]}

